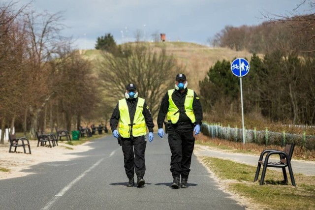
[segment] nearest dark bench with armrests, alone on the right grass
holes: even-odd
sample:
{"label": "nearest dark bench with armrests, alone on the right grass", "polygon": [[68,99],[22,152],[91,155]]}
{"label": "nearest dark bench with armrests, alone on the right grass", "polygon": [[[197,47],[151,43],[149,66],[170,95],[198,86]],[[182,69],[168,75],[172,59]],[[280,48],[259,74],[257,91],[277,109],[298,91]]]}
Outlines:
{"label": "nearest dark bench with armrests, alone on the right grass", "polygon": [[[259,160],[258,160],[258,166],[257,166],[254,182],[258,179],[260,167],[261,167],[261,165],[263,165],[261,179],[260,179],[260,183],[259,183],[260,185],[263,185],[263,183],[264,183],[267,167],[282,168],[282,172],[284,174],[284,182],[287,183],[288,181],[287,181],[287,176],[286,176],[286,171],[285,171],[285,167],[287,167],[289,170],[291,183],[293,186],[296,186],[294,176],[293,176],[292,167],[291,167],[291,158],[293,155],[294,146],[295,146],[295,144],[285,145],[284,151],[263,150],[261,152]],[[263,157],[265,154],[266,154],[266,157],[265,157],[265,160],[263,160]],[[279,157],[280,157],[279,162],[269,162],[269,157],[271,155],[274,155],[274,154],[279,155]]]}

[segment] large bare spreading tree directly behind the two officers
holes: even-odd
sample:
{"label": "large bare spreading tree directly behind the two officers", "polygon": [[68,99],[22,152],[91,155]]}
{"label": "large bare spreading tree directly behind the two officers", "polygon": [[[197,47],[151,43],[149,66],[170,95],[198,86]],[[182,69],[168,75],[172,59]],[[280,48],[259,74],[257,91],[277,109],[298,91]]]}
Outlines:
{"label": "large bare spreading tree directly behind the two officers", "polygon": [[126,85],[134,83],[139,97],[145,98],[154,117],[165,91],[171,88],[174,75],[181,69],[172,56],[166,55],[165,49],[160,51],[141,44],[129,49],[126,57],[115,57],[103,53],[99,61],[99,78],[103,83],[107,97],[116,101],[124,97]]}

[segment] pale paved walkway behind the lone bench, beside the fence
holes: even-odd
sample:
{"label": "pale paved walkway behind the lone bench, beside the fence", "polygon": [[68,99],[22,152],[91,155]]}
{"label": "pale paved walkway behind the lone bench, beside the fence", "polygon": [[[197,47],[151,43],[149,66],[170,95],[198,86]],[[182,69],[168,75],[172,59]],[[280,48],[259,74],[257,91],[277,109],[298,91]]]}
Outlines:
{"label": "pale paved walkway behind the lone bench, beside the fence", "polygon": [[[194,154],[197,156],[219,157],[230,159],[239,163],[245,163],[257,166],[259,155],[250,155],[243,153],[227,152],[225,150],[210,150],[207,146],[195,145]],[[274,159],[279,160],[279,159]],[[292,170],[294,174],[304,174],[307,176],[315,176],[315,161],[291,160]],[[281,168],[268,167],[277,171],[282,171]]]}

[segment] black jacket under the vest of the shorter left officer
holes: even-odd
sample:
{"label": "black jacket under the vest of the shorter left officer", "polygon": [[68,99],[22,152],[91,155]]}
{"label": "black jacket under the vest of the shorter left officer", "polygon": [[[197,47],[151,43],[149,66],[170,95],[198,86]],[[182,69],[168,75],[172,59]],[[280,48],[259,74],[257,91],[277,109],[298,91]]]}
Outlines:
{"label": "black jacket under the vest of the shorter left officer", "polygon": [[[128,105],[128,110],[129,110],[129,116],[130,116],[130,123],[133,123],[133,119],[134,119],[134,114],[136,112],[136,108],[137,108],[137,103],[138,103],[138,98],[133,98],[133,99],[126,99],[127,101],[127,105]],[[109,120],[109,124],[110,127],[112,128],[112,132],[117,129],[117,125],[120,119],[120,112],[119,112],[119,107],[118,104],[116,105],[114,112],[112,114],[112,117]],[[143,105],[143,111],[142,114],[145,118],[146,124],[148,126],[149,132],[153,132],[153,127],[154,127],[154,123],[153,123],[153,119],[151,116],[151,112],[149,107],[147,106],[146,102],[144,102]]]}

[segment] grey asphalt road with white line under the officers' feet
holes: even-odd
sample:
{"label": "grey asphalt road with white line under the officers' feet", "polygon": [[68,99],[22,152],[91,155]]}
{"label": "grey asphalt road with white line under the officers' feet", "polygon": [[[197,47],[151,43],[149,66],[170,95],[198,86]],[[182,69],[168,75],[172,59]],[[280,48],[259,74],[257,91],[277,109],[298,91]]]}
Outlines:
{"label": "grey asphalt road with white line under the officers' feet", "polygon": [[[147,143],[146,184],[126,187],[124,158],[117,140],[108,136],[89,143],[93,150],[70,161],[32,166],[26,177],[0,180],[1,210],[241,210],[192,157],[189,187],[172,189],[167,137]],[[135,176],[136,179],[136,176]]]}

